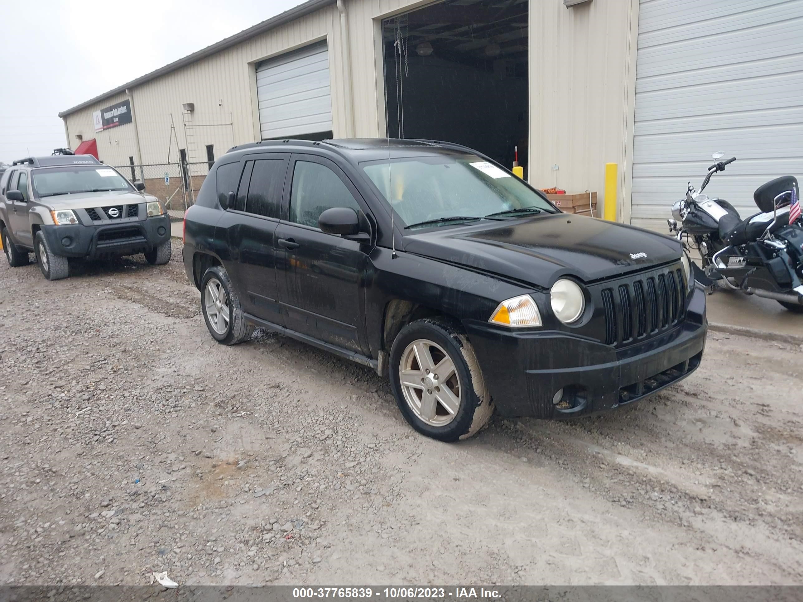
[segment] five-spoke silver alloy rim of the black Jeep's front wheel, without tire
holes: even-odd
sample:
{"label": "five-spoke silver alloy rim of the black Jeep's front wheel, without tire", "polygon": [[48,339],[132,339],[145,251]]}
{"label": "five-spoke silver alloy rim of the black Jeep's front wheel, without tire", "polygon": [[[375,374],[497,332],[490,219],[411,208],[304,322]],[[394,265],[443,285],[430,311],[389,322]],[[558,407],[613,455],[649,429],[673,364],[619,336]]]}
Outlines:
{"label": "five-spoke silver alloy rim of the black Jeep's front wheel, without tire", "polygon": [[430,426],[448,425],[460,409],[462,387],[454,361],[427,339],[414,340],[402,352],[399,382],[413,413]]}

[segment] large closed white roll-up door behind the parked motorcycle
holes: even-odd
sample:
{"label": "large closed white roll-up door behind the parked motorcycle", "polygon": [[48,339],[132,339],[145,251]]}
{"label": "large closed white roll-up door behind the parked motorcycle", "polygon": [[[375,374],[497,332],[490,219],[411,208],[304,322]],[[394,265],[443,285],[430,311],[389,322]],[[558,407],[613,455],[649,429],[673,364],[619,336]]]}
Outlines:
{"label": "large closed white roll-up door behind the parked motorcycle", "polygon": [[[803,176],[803,0],[642,0],[632,222],[665,228],[711,153],[737,157],[706,193],[743,217],[752,193]],[[726,157],[726,158],[727,158]]]}

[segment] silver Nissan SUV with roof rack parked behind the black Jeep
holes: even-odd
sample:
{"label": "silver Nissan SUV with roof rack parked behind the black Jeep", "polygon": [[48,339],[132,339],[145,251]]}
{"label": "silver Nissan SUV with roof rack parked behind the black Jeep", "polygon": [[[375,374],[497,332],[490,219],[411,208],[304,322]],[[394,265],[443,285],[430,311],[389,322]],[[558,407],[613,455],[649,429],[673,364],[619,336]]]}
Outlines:
{"label": "silver Nissan SUV with roof rack parked behind the black Jeep", "polygon": [[170,220],[143,193],[92,155],[55,154],[14,161],[0,177],[0,237],[8,264],[36,255],[48,280],[66,278],[67,258],[145,254],[169,262]]}

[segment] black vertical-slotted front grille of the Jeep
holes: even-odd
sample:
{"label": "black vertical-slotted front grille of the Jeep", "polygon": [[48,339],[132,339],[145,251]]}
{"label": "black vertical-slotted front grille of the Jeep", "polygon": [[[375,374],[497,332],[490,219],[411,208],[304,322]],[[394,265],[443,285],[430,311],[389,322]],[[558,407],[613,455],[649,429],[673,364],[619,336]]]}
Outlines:
{"label": "black vertical-slotted front grille of the Jeep", "polygon": [[601,284],[605,344],[622,346],[674,327],[686,313],[686,286],[674,266]]}

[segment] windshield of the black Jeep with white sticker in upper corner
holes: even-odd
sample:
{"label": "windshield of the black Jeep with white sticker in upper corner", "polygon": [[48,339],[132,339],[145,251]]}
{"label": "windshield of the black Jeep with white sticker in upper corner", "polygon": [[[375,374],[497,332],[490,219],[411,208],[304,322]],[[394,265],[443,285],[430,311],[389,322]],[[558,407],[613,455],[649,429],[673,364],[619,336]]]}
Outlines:
{"label": "windshield of the black Jeep with white sticker in upper corner", "polygon": [[518,177],[476,155],[381,159],[361,167],[409,229],[558,212]]}

